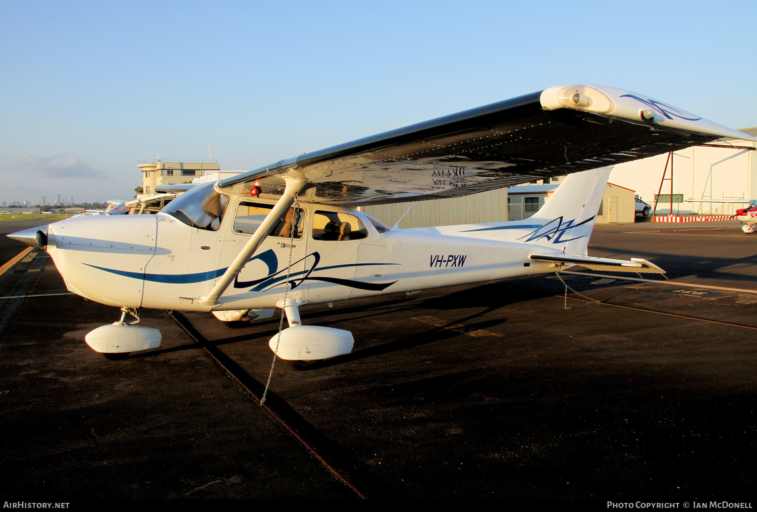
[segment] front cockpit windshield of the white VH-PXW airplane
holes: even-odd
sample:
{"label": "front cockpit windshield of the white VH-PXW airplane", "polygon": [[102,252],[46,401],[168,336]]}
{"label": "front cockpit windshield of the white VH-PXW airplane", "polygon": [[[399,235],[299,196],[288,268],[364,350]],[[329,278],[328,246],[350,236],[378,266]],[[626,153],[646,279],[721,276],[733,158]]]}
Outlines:
{"label": "front cockpit windshield of the white VH-PXW airplane", "polygon": [[160,213],[176,217],[193,228],[217,231],[220,221],[213,221],[223,216],[229,204],[229,196],[219,194],[213,185],[215,182],[195,186],[168,203]]}

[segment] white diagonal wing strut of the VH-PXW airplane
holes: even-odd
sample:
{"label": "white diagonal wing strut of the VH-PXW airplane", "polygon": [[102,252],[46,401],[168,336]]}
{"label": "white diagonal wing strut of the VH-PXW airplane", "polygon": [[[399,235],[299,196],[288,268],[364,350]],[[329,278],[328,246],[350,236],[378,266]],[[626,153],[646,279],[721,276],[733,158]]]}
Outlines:
{"label": "white diagonal wing strut of the VH-PXW airplane", "polygon": [[229,265],[229,268],[226,268],[226,272],[223,273],[216,283],[216,286],[213,287],[213,290],[210,290],[210,293],[208,293],[207,296],[201,297],[200,300],[198,300],[198,304],[210,308],[215,308],[222,304],[218,299],[223,295],[223,292],[226,291],[226,288],[229,287],[229,284],[232,284],[232,281],[234,281],[234,278],[236,278],[239,272],[241,272],[241,269],[245,267],[257,248],[263,243],[263,240],[265,240],[271,231],[273,231],[273,228],[276,227],[279,219],[284,216],[284,213],[289,209],[292,203],[294,203],[294,195],[301,194],[312,186],[310,183],[302,179],[291,178],[290,176],[284,176],[284,180],[286,182],[286,188],[284,189],[284,194],[282,194],[279,202],[276,203],[270,213],[266,215],[266,218],[263,219],[263,222],[257,230],[255,230],[255,233],[250,237],[250,240],[248,240],[245,247],[239,252],[234,259],[234,262]]}

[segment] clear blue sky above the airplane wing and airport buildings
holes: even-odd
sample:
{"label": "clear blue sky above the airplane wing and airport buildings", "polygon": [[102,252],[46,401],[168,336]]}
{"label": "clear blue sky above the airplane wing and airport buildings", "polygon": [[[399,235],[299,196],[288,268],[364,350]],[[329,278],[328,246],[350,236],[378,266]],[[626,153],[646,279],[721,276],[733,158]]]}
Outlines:
{"label": "clear blue sky above the airplane wing and airport buildings", "polygon": [[757,126],[757,2],[0,2],[0,200],[126,198],[582,82]]}

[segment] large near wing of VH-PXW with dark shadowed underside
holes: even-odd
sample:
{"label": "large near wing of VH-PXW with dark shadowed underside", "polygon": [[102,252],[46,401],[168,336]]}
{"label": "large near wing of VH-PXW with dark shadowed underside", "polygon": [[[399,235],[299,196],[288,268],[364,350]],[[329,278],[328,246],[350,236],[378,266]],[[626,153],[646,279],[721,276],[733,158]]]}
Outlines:
{"label": "large near wing of VH-PXW with dark shadowed underside", "polygon": [[[556,85],[323,150],[217,183],[282,194],[282,174],[316,184],[312,203],[360,206],[459,197],[751,135],[618,88]],[[156,191],[177,191],[164,186]]]}

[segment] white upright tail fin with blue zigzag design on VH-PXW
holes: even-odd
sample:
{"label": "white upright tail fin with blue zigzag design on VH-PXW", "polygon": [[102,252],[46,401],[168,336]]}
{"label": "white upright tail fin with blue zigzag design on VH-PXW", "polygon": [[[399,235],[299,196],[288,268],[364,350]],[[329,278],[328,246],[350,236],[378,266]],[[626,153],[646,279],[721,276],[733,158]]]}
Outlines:
{"label": "white upright tail fin with blue zigzag design on VH-PXW", "polygon": [[612,167],[602,167],[565,178],[547,203],[525,219],[541,227],[520,240],[566,254],[585,254],[611,171]]}

